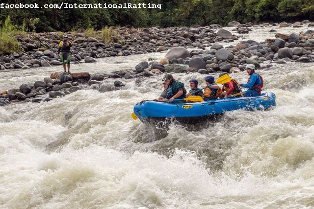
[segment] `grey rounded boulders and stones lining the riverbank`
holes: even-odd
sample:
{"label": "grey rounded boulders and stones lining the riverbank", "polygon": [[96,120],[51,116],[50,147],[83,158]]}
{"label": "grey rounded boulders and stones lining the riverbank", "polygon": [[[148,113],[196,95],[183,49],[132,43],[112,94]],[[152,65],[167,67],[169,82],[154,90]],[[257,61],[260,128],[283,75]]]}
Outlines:
{"label": "grey rounded boulders and stones lining the riverbank", "polygon": [[[308,21],[302,23],[308,24]],[[299,27],[302,23],[293,25],[280,23],[280,27]],[[273,24],[272,24],[273,25]],[[314,25],[309,23],[309,26]],[[231,22],[228,26],[236,27],[238,33],[248,33],[252,23],[241,25]],[[270,26],[268,23],[259,27]],[[214,29],[218,31],[214,32]],[[58,33],[37,34],[36,36],[17,37],[24,52],[0,56],[0,69],[25,69],[31,67],[61,65],[57,57]],[[67,33],[68,34],[68,33]],[[52,98],[64,96],[82,89],[81,84],[100,84],[105,78],[124,78],[153,76],[165,72],[198,72],[209,74],[217,71],[239,72],[247,64],[254,64],[257,68],[268,68],[272,64],[287,62],[314,62],[314,31],[302,31],[299,34],[276,34],[276,39],[264,42],[243,40],[236,46],[223,47],[221,43],[229,43],[240,37],[230,31],[221,29],[220,25],[210,25],[196,28],[120,28],[118,43],[106,45],[92,37],[84,37],[83,33],[71,33],[73,47],[71,58],[74,63],[97,62],[95,58],[108,56],[124,56],[144,54],[153,51],[170,49],[165,58],[152,62],[141,62],[135,70],[119,70],[105,74],[90,75],[82,73],[52,73],[44,81],[34,84],[23,84],[18,89],[0,92],[0,106],[19,101],[50,101]],[[205,50],[205,47],[210,49]],[[199,48],[188,51],[186,48]],[[46,49],[47,48],[47,49]],[[43,50],[46,49],[46,50]],[[263,65],[261,65],[263,64]],[[114,87],[121,87],[121,81],[115,81]],[[114,88],[113,88],[114,90]]]}

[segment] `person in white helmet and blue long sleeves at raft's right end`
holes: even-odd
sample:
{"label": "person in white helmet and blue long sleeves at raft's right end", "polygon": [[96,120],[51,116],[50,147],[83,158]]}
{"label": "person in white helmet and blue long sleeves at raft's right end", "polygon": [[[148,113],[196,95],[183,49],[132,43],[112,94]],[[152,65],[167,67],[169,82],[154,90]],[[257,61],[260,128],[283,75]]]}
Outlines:
{"label": "person in white helmet and blue long sleeves at raft's right end", "polygon": [[244,96],[259,96],[262,92],[263,78],[255,72],[255,65],[250,64],[245,67],[247,74],[250,75],[246,84],[240,84],[241,87],[247,88]]}

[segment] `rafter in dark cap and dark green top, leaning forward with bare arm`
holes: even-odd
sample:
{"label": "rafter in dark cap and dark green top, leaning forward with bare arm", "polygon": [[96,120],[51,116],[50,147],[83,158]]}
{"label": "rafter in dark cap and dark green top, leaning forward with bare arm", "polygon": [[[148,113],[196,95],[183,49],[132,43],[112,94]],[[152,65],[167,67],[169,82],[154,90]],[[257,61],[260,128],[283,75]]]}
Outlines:
{"label": "rafter in dark cap and dark green top, leaning forward with bare arm", "polygon": [[186,90],[183,83],[174,79],[171,73],[165,74],[164,79],[166,79],[166,84],[169,86],[166,95],[169,102],[172,102],[174,99],[185,98]]}

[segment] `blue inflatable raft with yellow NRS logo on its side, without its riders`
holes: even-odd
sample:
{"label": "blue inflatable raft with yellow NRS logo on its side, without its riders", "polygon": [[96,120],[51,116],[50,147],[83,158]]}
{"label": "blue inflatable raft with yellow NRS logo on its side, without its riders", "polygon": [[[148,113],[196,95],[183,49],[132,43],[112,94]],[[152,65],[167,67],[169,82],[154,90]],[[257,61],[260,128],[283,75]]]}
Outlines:
{"label": "blue inflatable raft with yellow NRS logo on its side, without its riders", "polygon": [[203,102],[142,101],[134,106],[134,114],[144,123],[152,120],[164,121],[168,117],[173,117],[179,122],[195,123],[227,111],[265,110],[273,106],[276,106],[276,95],[267,92],[260,96],[233,97]]}

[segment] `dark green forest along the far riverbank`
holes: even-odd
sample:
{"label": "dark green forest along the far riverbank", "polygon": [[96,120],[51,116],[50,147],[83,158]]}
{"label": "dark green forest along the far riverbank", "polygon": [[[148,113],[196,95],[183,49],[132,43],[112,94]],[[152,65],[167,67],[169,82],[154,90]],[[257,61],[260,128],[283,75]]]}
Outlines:
{"label": "dark green forest along the far riverbank", "polygon": [[4,0],[9,4],[120,4],[140,2],[161,4],[161,9],[71,8],[71,9],[7,9],[0,8],[0,22],[10,15],[15,25],[26,24],[28,30],[75,31],[78,28],[102,29],[131,25],[191,26],[240,23],[314,20],[314,0]]}

